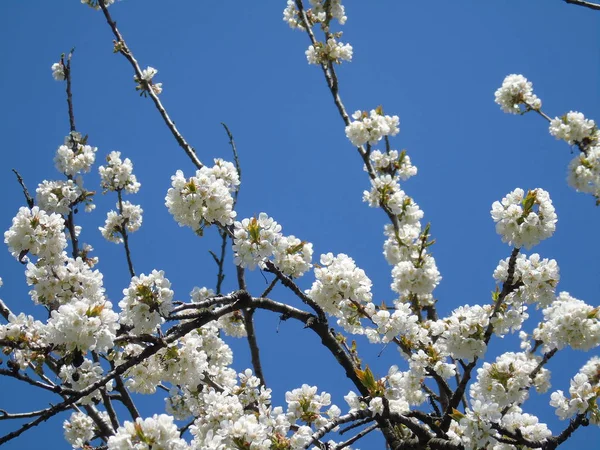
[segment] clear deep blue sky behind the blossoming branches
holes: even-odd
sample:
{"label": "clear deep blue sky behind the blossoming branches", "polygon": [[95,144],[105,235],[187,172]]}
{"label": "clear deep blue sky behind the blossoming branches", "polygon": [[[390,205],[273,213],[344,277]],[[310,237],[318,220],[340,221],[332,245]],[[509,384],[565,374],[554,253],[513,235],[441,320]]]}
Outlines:
{"label": "clear deep blue sky behind the blossoming branches", "polygon": [[[566,167],[574,156],[548,134],[532,114],[504,114],[494,91],[510,73],[522,73],[550,116],[569,110],[600,120],[599,15],[561,0],[502,2],[346,1],[344,41],[354,47],[350,64],[339,68],[340,93],[349,111],[383,105],[400,116],[394,147],[407,149],[419,174],[403,185],[425,212],[437,243],[432,251],[443,276],[435,291],[441,314],[461,304],[487,302],[492,273],[510,254],[489,215],[491,204],[516,187],[550,192],[558,214],[553,238],[533,249],[555,258],[561,268],[559,290],[597,305],[600,293],[600,210],[591,197],[570,189]],[[285,1],[159,2],[123,0],[111,12],[136,58],[158,69],[166,108],[200,158],[230,158],[220,122],[233,132],[243,169],[239,217],[267,212],[286,234],[314,244],[321,253],[352,256],[374,283],[377,301],[393,299],[390,267],[382,256],[381,211],[362,203],[369,186],[356,150],[344,136],[342,121],[319,68],[306,63],[308,38],[282,20]],[[149,99],[134,90],[128,63],[112,53],[112,34],[100,12],[78,1],[0,4],[2,103],[0,132],[0,227],[8,229],[24,204],[11,168],[35,191],[43,179],[60,178],[52,158],[68,132],[64,86],[50,66],[76,47],[73,59],[77,127],[98,147],[97,161],[119,150],[134,163],[142,183],[128,200],[144,208],[144,224],[132,235],[138,273],[162,269],[175,297],[186,300],[193,286],[214,287],[216,271],[208,250],[217,249],[216,232],[198,239],[180,228],[164,207],[170,177],[193,166],[164,127]],[[98,190],[94,214],[79,214],[83,240],[96,247],[113,303],[128,284],[121,246],[102,241],[97,227],[116,198],[102,196],[97,169],[85,179]],[[225,290],[236,288],[232,265]],[[23,267],[0,252],[0,297],[15,311],[43,318],[28,298]],[[255,293],[264,288],[260,273],[249,274]],[[300,281],[310,287],[312,276]],[[283,288],[273,298],[297,305]],[[534,317],[536,314],[532,314]],[[342,371],[306,330],[276,317],[257,314],[263,364],[276,403],[286,390],[316,384],[333,395],[351,389]],[[535,324],[526,323],[531,330]],[[491,354],[512,349],[514,337],[492,345]],[[403,362],[397,352],[358,341],[359,350],[378,376]],[[234,347],[235,367],[249,366],[247,346]],[[594,352],[592,354],[597,354]],[[563,352],[549,365],[553,388],[568,390],[568,380],[592,354]],[[50,398],[1,380],[0,409],[39,409]],[[56,401],[56,400],[54,400]],[[152,413],[162,400],[140,400]],[[549,394],[533,395],[539,413],[554,432],[565,423],[547,405]],[[68,448],[62,438],[64,417],[26,433],[8,449]],[[0,422],[0,433],[15,427]],[[565,448],[597,439],[584,429]],[[578,444],[579,443],[579,444]],[[381,448],[365,441],[360,448]]]}

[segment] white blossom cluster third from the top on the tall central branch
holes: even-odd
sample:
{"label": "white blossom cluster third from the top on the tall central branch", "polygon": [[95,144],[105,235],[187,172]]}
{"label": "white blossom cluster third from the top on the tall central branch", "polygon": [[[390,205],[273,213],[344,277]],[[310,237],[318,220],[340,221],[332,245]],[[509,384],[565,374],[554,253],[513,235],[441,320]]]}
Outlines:
{"label": "white blossom cluster third from the top on the tall central branch", "polygon": [[360,147],[367,142],[377,144],[384,136],[395,136],[400,132],[398,116],[383,114],[381,107],[366,111],[356,111],[352,114],[354,121],[346,127],[346,137],[352,145]]}

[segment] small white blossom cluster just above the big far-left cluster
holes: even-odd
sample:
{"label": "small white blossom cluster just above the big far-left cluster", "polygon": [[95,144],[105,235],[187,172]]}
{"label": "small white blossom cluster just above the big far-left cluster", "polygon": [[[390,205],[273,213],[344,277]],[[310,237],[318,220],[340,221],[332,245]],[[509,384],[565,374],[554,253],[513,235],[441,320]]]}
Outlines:
{"label": "small white blossom cluster just above the big far-left cluster", "polygon": [[84,200],[87,200],[85,207],[87,212],[95,208],[87,193],[73,180],[44,180],[38,185],[35,193],[37,205],[47,213],[67,216],[71,212],[72,206]]}

